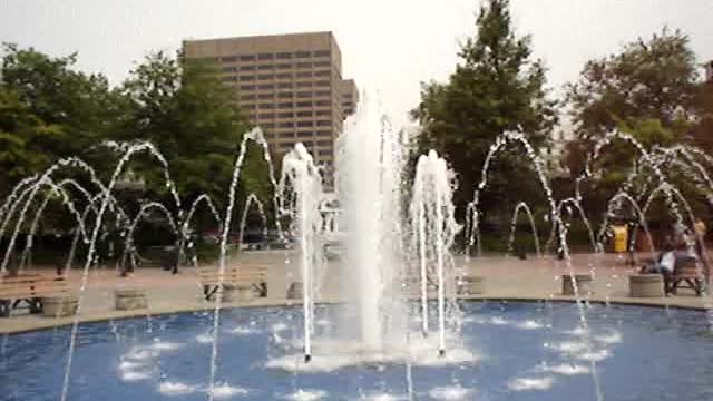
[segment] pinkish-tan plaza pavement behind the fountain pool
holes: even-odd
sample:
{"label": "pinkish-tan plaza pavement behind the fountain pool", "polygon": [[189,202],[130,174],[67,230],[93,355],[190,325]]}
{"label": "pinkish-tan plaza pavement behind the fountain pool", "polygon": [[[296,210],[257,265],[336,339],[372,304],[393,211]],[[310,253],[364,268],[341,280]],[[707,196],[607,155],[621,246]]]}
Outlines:
{"label": "pinkish-tan plaza pavement behind the fountain pool", "polygon": [[[648,255],[642,255],[642,257],[646,256]],[[295,254],[285,251],[244,252],[233,256],[228,263],[268,266],[267,296],[250,302],[225,304],[225,307],[289,305],[299,302],[286,299],[289,285],[299,281],[300,277]],[[485,293],[468,296],[469,299],[574,301],[573,296],[561,295],[561,274],[568,273],[569,267],[551,257],[530,256],[525,261],[507,256],[482,256],[470,260],[459,257],[456,264],[466,274],[485,277]],[[631,297],[628,276],[637,267],[627,266],[624,258],[617,255],[575,254],[572,258],[572,268],[576,273],[594,273],[594,294],[588,297],[592,302],[700,310],[713,306],[713,299],[710,295],[697,297],[688,290],[682,290],[678,295],[668,297]],[[343,277],[339,271],[335,264],[326,267],[326,274],[322,280],[321,302],[344,301],[340,296],[343,293]],[[76,287],[79,287],[81,278],[79,271],[72,271],[69,274],[69,281]],[[148,309],[116,311],[114,290],[120,287],[144,288],[148,297]],[[77,317],[52,319],[30,315],[20,310],[9,319],[0,317],[0,333],[53,327],[70,324],[75,319],[81,322],[101,321],[213,309],[214,305],[214,302],[206,302],[203,299],[194,268],[184,267],[177,275],[160,268],[138,268],[133,277],[118,277],[113,268],[99,268],[91,271],[87,277],[81,310]]]}

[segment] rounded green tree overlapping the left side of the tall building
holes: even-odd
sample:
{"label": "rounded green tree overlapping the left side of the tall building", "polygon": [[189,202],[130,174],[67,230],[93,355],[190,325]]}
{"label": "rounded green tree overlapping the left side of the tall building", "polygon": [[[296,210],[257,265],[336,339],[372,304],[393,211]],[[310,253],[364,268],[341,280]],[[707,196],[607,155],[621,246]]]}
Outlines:
{"label": "rounded green tree overlapping the left side of the tall building", "polygon": [[[130,117],[117,138],[154,143],[184,198],[206,193],[218,203],[226,200],[238,145],[252,127],[215,66],[156,52],[131,71],[123,90],[131,102]],[[244,166],[241,195],[255,192],[267,198],[262,155],[251,150]],[[155,192],[165,192],[156,162],[146,160],[138,169]]]}

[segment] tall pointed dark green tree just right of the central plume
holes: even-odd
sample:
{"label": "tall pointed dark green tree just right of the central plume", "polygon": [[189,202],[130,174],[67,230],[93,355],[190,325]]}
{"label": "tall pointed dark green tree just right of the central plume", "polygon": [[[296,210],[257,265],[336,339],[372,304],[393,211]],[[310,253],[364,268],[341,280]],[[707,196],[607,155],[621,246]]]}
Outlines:
{"label": "tall pointed dark green tree just right of the central plume", "polygon": [[[448,81],[422,85],[421,102],[412,111],[423,128],[417,139],[419,150],[438,150],[458,175],[455,202],[461,214],[472,199],[488,149],[500,134],[521,129],[535,147],[543,147],[557,121],[555,102],[545,89],[545,68],[531,59],[530,37],[515,35],[509,2],[487,1],[476,30],[462,45]],[[489,175],[492,185],[481,202],[485,207],[509,214],[518,200],[541,193],[521,148],[499,155]],[[514,176],[533,178],[515,183],[508,178]]]}

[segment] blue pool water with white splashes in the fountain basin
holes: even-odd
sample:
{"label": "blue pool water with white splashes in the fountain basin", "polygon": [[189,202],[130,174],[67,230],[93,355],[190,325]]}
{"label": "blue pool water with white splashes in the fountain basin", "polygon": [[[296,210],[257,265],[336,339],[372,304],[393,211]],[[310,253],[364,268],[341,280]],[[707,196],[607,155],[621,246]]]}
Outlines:
{"label": "blue pool water with white splashes in the fountain basin", "polygon": [[[329,331],[340,309],[321,307],[318,326]],[[413,400],[586,401],[596,400],[595,361],[604,400],[713,400],[713,335],[702,312],[592,305],[586,349],[574,304],[461,309],[460,346],[471,359],[417,362],[410,372],[403,362],[372,361],[300,373],[268,365],[299,352],[301,310],[224,311],[214,399],[408,400],[410,388]],[[81,324],[68,399],[206,400],[212,319],[201,312]],[[67,327],[2,340],[0,400],[58,400],[68,344]],[[329,355],[315,352],[315,363],[321,358]]]}

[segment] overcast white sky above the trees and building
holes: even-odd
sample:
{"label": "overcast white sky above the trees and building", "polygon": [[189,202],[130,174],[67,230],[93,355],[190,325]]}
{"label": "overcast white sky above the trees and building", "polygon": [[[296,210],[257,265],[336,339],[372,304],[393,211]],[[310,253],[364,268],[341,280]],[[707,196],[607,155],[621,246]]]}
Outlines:
{"label": "overcast white sky above the trees and building", "polygon": [[[148,51],[188,38],[331,30],[344,77],[378,89],[397,124],[420,82],[453,70],[472,35],[479,0],[0,0],[0,40],[60,56],[123,80]],[[530,33],[549,85],[576,79],[583,63],[648,37],[664,25],[691,36],[699,61],[713,59],[713,0],[511,0],[518,33]]]}

